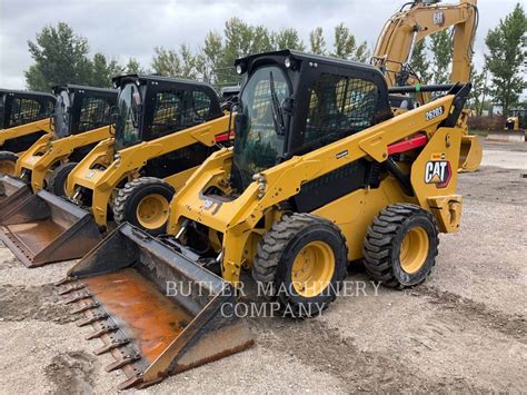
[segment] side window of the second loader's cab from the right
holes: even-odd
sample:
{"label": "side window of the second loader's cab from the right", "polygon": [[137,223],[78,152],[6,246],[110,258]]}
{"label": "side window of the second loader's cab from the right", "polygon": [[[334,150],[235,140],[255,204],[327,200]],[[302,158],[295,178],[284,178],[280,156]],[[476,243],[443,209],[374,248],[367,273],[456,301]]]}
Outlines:
{"label": "side window of the second loader's cab from the right", "polygon": [[181,129],[182,95],[182,91],[157,92],[149,140]]}

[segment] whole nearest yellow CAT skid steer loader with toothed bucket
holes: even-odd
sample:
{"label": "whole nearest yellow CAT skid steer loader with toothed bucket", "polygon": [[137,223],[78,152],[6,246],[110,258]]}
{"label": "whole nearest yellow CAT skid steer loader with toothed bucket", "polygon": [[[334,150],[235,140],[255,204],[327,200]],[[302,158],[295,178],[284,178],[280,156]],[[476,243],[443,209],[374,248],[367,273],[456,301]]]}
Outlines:
{"label": "whole nearest yellow CAT skid steer loader with toothed bucket", "polygon": [[[119,366],[130,361],[119,339],[145,362],[135,328],[159,325],[116,308],[132,306],[132,292],[99,284],[163,293],[173,282],[191,292],[165,300],[185,309],[202,295],[200,279],[218,276],[238,287],[248,269],[281,314],[314,316],[337,297],[349,261],[364,259],[368,274],[390,287],[424,282],[438,234],[459,226],[455,170],[464,131],[456,125],[469,85],[449,86],[436,100],[394,117],[382,75],[367,65],[286,50],[239,59],[236,68],[243,81],[235,146],[212,154],[173,196],[169,235],[156,239],[125,224],[64,282],[63,292],[97,334],[116,328],[113,343],[101,338],[122,350],[113,355]],[[218,302],[197,317],[230,306]],[[239,332],[230,334],[216,339],[222,355],[247,345]],[[185,350],[158,357],[162,366],[128,368],[127,385],[188,368],[180,363]]]}

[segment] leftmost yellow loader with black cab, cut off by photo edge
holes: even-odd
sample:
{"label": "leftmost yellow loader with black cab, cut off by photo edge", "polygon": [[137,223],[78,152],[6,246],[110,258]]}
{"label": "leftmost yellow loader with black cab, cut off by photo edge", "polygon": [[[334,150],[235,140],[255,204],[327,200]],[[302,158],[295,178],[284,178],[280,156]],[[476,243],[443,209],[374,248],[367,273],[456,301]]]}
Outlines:
{"label": "leftmost yellow loader with black cab, cut off by photo edge", "polygon": [[0,176],[13,175],[18,156],[51,132],[54,102],[51,93],[0,89]]}

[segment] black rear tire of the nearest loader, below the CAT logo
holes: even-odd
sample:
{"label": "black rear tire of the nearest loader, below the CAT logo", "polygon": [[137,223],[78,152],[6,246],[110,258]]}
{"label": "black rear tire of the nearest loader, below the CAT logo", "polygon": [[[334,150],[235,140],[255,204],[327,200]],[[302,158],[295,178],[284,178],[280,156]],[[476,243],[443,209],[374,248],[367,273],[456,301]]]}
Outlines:
{"label": "black rear tire of the nearest loader, below the CAT logo", "polygon": [[[421,240],[428,239],[428,244],[420,243],[422,255],[415,258],[414,270],[405,270],[400,260],[402,240],[409,233],[419,233]],[[362,250],[365,268],[372,279],[385,286],[397,289],[415,286],[430,275],[438,247],[438,228],[430,213],[410,204],[390,205],[380,211],[368,229]]]}

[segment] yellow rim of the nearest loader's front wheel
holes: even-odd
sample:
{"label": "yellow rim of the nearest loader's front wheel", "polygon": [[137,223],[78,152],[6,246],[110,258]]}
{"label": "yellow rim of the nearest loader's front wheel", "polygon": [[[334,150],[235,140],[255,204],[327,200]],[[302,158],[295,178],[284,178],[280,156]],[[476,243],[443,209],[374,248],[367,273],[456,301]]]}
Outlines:
{"label": "yellow rim of the nearest loader's front wheel", "polygon": [[329,285],[335,273],[335,254],[326,243],[304,246],[292,263],[291,282],[298,295],[314,297]]}

